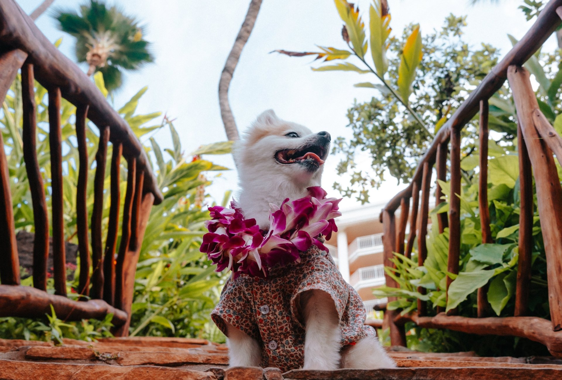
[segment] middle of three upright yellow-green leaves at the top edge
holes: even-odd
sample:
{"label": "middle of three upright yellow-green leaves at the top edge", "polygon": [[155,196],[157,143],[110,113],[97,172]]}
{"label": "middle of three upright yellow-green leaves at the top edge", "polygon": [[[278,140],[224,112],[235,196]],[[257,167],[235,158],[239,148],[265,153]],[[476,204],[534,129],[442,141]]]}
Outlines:
{"label": "middle of three upright yellow-green leaves at the top edge", "polygon": [[371,55],[377,70],[377,75],[381,78],[388,70],[388,59],[386,51],[388,44],[386,40],[391,32],[390,14],[383,15],[380,0],[374,0],[369,8],[369,29],[371,32]]}

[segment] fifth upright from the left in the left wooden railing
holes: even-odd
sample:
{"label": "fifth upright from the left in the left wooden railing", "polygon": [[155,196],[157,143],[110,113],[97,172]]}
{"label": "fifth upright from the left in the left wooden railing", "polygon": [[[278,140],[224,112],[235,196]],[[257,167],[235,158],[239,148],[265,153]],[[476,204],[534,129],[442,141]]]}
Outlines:
{"label": "fifth upright from the left in the left wooden railing", "polygon": [[94,207],[92,209],[92,297],[103,296],[103,184],[107,163],[107,142],[110,128],[99,130],[98,151],[96,152],[96,175],[94,176]]}

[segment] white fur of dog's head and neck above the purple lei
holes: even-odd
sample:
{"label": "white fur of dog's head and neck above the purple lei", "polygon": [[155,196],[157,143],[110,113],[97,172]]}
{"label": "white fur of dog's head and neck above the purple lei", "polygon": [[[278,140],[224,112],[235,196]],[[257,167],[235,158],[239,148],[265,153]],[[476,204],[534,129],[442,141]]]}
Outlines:
{"label": "white fur of dog's head and neck above the purple lei", "polygon": [[[266,134],[266,131],[270,131]],[[287,138],[297,132],[300,138]],[[252,135],[264,134],[257,141]],[[306,188],[320,186],[324,166],[309,172],[297,164],[283,165],[273,158],[281,149],[297,149],[316,139],[310,129],[297,123],[281,120],[273,110],[262,113],[233,147],[237,163],[239,186],[238,203],[244,217],[255,218],[261,228],[269,227],[269,204],[280,205],[285,198],[298,199],[307,195]]]}

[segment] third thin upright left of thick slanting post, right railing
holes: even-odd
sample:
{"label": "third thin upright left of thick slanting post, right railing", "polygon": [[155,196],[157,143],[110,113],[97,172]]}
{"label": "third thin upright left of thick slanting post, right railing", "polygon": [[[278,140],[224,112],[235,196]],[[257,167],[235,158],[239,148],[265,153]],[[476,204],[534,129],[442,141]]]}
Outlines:
{"label": "third thin upright left of thick slanting post, right railing", "polygon": [[[447,271],[459,273],[460,255],[460,129],[451,129],[451,195],[449,196],[449,251]],[[447,276],[448,289],[452,278]],[[448,314],[455,314],[456,309],[449,310]]]}

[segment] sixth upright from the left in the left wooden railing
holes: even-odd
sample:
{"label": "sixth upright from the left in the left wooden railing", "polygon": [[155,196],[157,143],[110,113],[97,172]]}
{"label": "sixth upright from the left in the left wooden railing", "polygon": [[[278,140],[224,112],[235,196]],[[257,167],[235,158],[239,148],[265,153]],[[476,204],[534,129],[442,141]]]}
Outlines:
{"label": "sixth upright from the left in the left wooden railing", "polygon": [[105,255],[103,258],[103,299],[110,305],[115,302],[115,249],[119,233],[119,207],[121,203],[121,152],[123,145],[113,146],[111,155],[111,205],[107,226]]}

